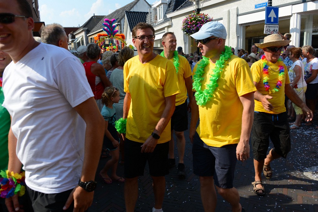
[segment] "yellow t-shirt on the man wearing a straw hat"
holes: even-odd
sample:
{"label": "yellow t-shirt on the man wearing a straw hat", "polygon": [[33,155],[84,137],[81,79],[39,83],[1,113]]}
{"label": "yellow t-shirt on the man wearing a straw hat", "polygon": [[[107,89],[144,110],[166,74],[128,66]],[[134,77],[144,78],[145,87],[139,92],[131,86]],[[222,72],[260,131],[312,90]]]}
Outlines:
{"label": "yellow t-shirt on the man wearing a straw hat", "polygon": [[[285,71],[284,71],[284,79],[282,80],[282,86],[279,89],[279,92],[275,92],[275,93],[271,93],[269,94],[268,91],[266,91],[265,87],[264,87],[264,83],[263,83],[263,79],[264,79],[264,74],[263,74],[263,62],[262,60],[259,60],[255,63],[252,64],[251,66],[251,72],[252,72],[252,76],[253,76],[253,81],[257,82],[256,85],[256,89],[257,91],[259,91],[261,94],[263,95],[270,95],[273,97],[273,99],[268,99],[268,101],[273,105],[274,109],[272,111],[267,111],[264,109],[262,103],[258,100],[254,100],[255,101],[255,111],[258,112],[265,112],[265,113],[271,113],[271,114],[278,114],[278,113],[283,113],[286,111],[286,107],[285,107],[285,84],[289,84],[289,77],[288,77],[288,72],[287,72],[287,67],[286,65],[281,62],[282,65],[284,65]],[[273,70],[278,70],[278,65],[279,62],[276,62],[275,64],[271,63],[271,62],[267,62],[267,65],[269,65]],[[269,85],[269,89],[273,89],[278,81],[278,74],[279,71],[274,72],[272,69],[268,68],[268,85]]]}

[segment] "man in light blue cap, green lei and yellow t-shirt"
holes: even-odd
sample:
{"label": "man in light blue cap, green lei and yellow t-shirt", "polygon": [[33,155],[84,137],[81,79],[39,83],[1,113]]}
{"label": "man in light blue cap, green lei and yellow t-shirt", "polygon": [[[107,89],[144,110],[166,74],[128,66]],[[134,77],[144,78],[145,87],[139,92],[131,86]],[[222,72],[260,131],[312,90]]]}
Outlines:
{"label": "man in light blue cap, green lei and yellow t-shirt", "polygon": [[[231,47],[225,46],[226,36],[224,25],[217,21],[204,24],[191,35],[199,41],[198,47],[204,56],[193,69],[193,89],[198,101],[195,104],[193,99],[189,134],[193,143],[193,172],[200,176],[206,212],[216,208],[214,184],[231,204],[232,211],[242,210],[239,193],[233,187],[234,171],[236,161],[247,160],[250,150],[248,141],[256,88],[248,64],[232,55]],[[224,62],[221,57],[225,58]],[[222,65],[224,68],[218,68]],[[218,78],[217,85],[210,81],[214,79],[211,74]],[[211,83],[216,87],[214,91],[210,90]]]}

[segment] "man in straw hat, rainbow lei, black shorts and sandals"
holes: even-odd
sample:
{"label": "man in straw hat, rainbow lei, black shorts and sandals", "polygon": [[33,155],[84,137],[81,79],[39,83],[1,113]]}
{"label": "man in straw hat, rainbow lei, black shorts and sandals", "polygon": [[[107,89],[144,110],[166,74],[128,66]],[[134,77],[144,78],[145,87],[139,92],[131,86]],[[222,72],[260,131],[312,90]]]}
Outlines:
{"label": "man in straw hat, rainbow lei, black shorts and sandals", "polygon": [[[286,65],[279,60],[280,52],[290,40],[282,40],[279,34],[264,38],[264,43],[255,44],[265,54],[251,66],[254,85],[255,111],[252,126],[252,147],[254,156],[255,181],[252,182],[256,195],[265,195],[261,172],[267,179],[272,177],[270,162],[274,159],[287,157],[290,151],[289,126],[284,105],[285,94],[297,106],[301,107],[306,120],[312,120],[313,113],[296,95],[289,85]],[[269,138],[274,148],[269,151]]]}

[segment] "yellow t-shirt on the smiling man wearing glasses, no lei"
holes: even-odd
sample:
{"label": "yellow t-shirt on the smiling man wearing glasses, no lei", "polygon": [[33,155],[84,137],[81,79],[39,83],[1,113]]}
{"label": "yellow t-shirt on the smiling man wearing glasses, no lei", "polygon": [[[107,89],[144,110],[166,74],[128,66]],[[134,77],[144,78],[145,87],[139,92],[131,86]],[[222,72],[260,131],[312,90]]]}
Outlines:
{"label": "yellow t-shirt on the smiling man wearing glasses, no lei", "polygon": [[[124,91],[131,95],[126,138],[144,143],[166,107],[165,97],[180,93],[176,69],[173,63],[160,55],[146,64],[142,64],[137,55],[124,65]],[[170,134],[169,121],[158,144],[169,141]]]}

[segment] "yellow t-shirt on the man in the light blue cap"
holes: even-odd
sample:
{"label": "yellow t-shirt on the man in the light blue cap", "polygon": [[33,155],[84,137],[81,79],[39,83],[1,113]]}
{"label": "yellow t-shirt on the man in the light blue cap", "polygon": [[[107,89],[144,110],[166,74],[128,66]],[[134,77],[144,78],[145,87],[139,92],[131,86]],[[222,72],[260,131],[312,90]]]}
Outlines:
{"label": "yellow t-shirt on the man in the light blue cap", "polygon": [[[211,62],[204,67],[202,90],[210,83],[214,67],[215,64]],[[197,127],[200,138],[212,147],[239,143],[243,113],[239,97],[256,91],[248,64],[235,55],[225,63],[217,83],[218,87],[213,92],[214,99],[210,99],[205,106],[199,106],[200,123]]]}

